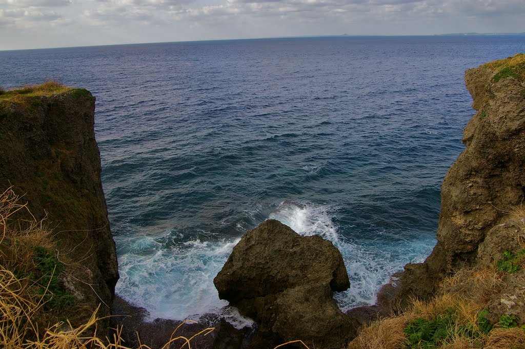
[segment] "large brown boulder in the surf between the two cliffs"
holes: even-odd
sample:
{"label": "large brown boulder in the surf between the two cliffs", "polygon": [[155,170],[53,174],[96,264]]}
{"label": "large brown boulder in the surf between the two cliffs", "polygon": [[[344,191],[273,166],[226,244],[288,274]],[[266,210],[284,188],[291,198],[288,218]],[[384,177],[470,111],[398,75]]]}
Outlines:
{"label": "large brown boulder in the surf between the two cliffs", "polygon": [[219,298],[259,323],[253,348],[293,340],[340,348],[358,323],[332,298],[350,287],[343,258],[330,241],[303,237],[277,220],[248,231],[214,279]]}

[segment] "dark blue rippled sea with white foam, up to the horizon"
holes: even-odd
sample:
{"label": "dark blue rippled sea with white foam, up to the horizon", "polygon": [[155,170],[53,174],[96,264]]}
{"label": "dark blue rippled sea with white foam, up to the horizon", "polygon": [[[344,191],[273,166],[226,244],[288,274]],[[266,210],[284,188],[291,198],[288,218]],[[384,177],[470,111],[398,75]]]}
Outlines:
{"label": "dark blue rippled sea with white foam, up to the horizon", "polygon": [[525,36],[322,37],[0,51],[0,85],[96,96],[117,293],[151,318],[222,309],[213,278],[268,218],[337,246],[374,303],[432,250],[474,114],[464,71]]}

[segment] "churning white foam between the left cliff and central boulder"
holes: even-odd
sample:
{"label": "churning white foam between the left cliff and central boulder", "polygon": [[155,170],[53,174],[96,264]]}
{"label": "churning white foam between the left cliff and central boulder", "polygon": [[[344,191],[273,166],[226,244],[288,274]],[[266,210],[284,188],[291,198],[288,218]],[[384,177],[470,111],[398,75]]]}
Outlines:
{"label": "churning white foam between the left cliff and central boulder", "polygon": [[173,232],[160,238],[121,241],[117,293],[146,308],[150,319],[195,319],[223,314],[235,326],[250,324],[219,300],[213,278],[239,239],[179,242]]}

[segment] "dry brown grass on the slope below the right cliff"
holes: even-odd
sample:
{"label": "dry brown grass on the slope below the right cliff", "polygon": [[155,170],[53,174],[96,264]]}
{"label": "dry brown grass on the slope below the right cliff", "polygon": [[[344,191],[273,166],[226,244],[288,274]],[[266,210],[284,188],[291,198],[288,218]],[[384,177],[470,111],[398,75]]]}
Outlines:
{"label": "dry brown grass on the slope below the right cliff", "polygon": [[[485,308],[490,295],[497,293],[503,287],[500,274],[495,269],[487,269],[449,277],[442,283],[445,289],[468,280],[474,285],[479,285],[481,292],[467,293],[466,296],[445,292],[430,301],[413,300],[412,306],[404,313],[363,327],[358,337],[349,344],[348,349],[406,348],[407,337],[403,330],[408,322],[419,318],[428,321],[447,312],[454,314],[454,329],[450,331],[448,339],[440,348],[523,349],[525,331],[522,329],[495,328],[488,334],[482,333],[483,331],[479,329],[479,312]],[[487,292],[488,295],[483,292]],[[474,297],[471,298],[469,295]],[[478,336],[466,336],[466,328],[478,333]]]}

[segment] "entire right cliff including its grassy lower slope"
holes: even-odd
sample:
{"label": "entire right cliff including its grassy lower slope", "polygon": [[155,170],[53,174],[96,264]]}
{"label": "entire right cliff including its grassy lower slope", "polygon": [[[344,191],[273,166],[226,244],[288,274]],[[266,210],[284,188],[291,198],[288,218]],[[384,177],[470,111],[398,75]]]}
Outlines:
{"label": "entire right cliff including its grassy lower slope", "polygon": [[443,181],[437,244],[383,287],[348,349],[525,347],[525,55],[465,83],[476,114]]}

